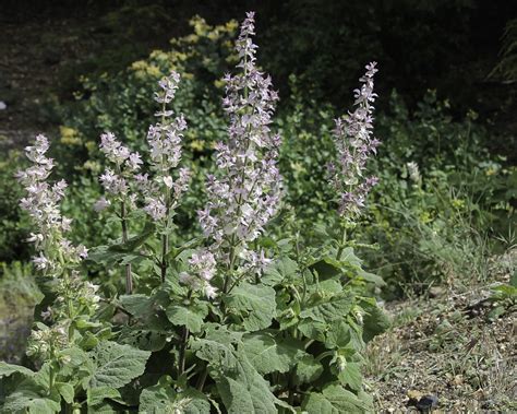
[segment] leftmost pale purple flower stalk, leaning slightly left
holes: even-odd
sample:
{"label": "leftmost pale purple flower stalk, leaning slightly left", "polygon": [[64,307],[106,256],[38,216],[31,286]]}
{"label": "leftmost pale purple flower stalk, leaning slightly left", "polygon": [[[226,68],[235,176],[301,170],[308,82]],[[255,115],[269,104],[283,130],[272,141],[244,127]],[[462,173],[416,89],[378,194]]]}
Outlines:
{"label": "leftmost pale purple flower stalk, leaning slightly left", "polygon": [[28,212],[35,225],[28,239],[38,253],[33,262],[56,295],[55,303],[41,315],[51,326],[38,323],[28,346],[28,354],[41,359],[52,358],[57,351],[67,347],[73,341],[77,327],[92,326],[87,320],[99,301],[96,294],[98,287],[82,281],[75,270],[87,257],[87,249],[83,245],[74,246],[64,236],[71,225],[71,220],[60,212],[67,184],[64,180],[52,185],[48,182],[53,168],[53,159],[46,155],[48,149],[47,138],[36,137],[34,145],[25,149],[32,166],[17,173],[27,192],[21,200],[21,206]]}

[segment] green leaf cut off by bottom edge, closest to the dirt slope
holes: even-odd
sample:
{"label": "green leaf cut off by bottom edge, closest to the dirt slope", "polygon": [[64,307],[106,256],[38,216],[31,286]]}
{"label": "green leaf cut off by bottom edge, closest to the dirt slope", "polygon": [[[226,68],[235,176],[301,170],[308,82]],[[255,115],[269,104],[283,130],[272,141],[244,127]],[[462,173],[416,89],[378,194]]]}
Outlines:
{"label": "green leaf cut off by bottom edge, closest to the dirt slope", "polygon": [[302,403],[310,414],[366,413],[371,411],[368,402],[358,398],[341,386],[329,385],[320,392],[311,392]]}

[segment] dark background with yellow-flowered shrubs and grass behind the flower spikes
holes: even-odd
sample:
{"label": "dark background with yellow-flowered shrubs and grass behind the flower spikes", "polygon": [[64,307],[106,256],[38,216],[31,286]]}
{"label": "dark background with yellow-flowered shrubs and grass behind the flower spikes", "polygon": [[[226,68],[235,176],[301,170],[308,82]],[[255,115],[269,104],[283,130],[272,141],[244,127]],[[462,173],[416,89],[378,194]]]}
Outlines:
{"label": "dark background with yellow-flowered shrubs and grass behind the flower spikes", "polygon": [[[237,61],[232,19],[252,9],[258,60],[281,97],[275,128],[284,137],[280,166],[293,211],[282,211],[279,221],[288,223],[296,213],[304,240],[322,237],[320,227],[329,224],[334,209],[327,201],[332,190],[322,186],[333,153],[333,119],[350,107],[357,78],[375,59],[381,69],[375,134],[383,144],[372,173],[380,185],[353,235],[360,246],[374,245],[359,246],[363,267],[386,282],[370,294],[400,299],[426,295],[436,285],[488,285],[494,282],[494,258],[515,257],[517,8],[512,1],[7,4],[9,13],[1,17],[7,33],[36,29],[41,39],[1,45],[16,48],[7,55],[0,79],[0,100],[7,104],[0,111],[2,292],[12,281],[31,281],[31,269],[20,263],[31,256],[28,226],[17,208],[21,189],[12,181],[23,163],[20,149],[32,138],[25,133],[47,130],[58,142],[58,174],[72,181],[64,206],[74,218],[72,238],[87,246],[116,239],[116,226],[92,209],[104,169],[98,137],[111,130],[141,150],[155,111],[151,92],[172,69],[184,79],[175,105],[187,116],[185,156],[195,173],[179,211],[179,234],[187,240],[199,233],[192,223],[203,204],[204,175],[213,168],[214,143],[226,133],[220,79]],[[12,58],[16,54],[33,56],[34,67]],[[41,75],[38,64],[48,73]],[[17,69],[28,82],[8,73]],[[497,281],[510,286],[508,272]],[[92,277],[103,275],[92,272]],[[2,328],[21,338],[22,348],[23,308],[37,301],[37,293],[32,282],[15,292],[20,300],[5,300],[0,319],[8,326],[1,314],[22,309],[22,323]],[[501,315],[515,307],[515,291],[506,293],[509,299],[496,300],[504,305]],[[0,348],[7,350],[0,357],[20,358],[20,350]]]}

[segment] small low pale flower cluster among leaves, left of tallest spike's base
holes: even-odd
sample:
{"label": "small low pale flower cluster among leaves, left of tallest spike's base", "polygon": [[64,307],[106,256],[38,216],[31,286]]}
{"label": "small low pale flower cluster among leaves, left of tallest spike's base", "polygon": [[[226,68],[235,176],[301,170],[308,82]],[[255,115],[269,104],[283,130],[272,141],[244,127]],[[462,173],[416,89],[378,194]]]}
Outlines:
{"label": "small low pale flower cluster among leaves, left of tallest spike's base", "polygon": [[217,288],[211,285],[216,273],[216,261],[214,255],[202,249],[192,255],[189,260],[190,272],[180,273],[180,282],[192,289],[203,289],[209,299],[216,296]]}

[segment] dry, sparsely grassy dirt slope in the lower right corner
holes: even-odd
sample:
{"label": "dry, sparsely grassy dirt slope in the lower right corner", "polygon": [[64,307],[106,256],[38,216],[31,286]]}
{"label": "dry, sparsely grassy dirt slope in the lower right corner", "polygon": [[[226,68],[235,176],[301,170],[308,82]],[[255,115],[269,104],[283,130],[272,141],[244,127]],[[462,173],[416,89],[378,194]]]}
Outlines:
{"label": "dry, sparsely grassy dirt slope in the lower right corner", "polygon": [[[517,251],[504,260],[515,272]],[[369,344],[366,358],[378,412],[517,412],[517,306],[515,296],[493,294],[509,277],[387,305],[394,328]]]}

